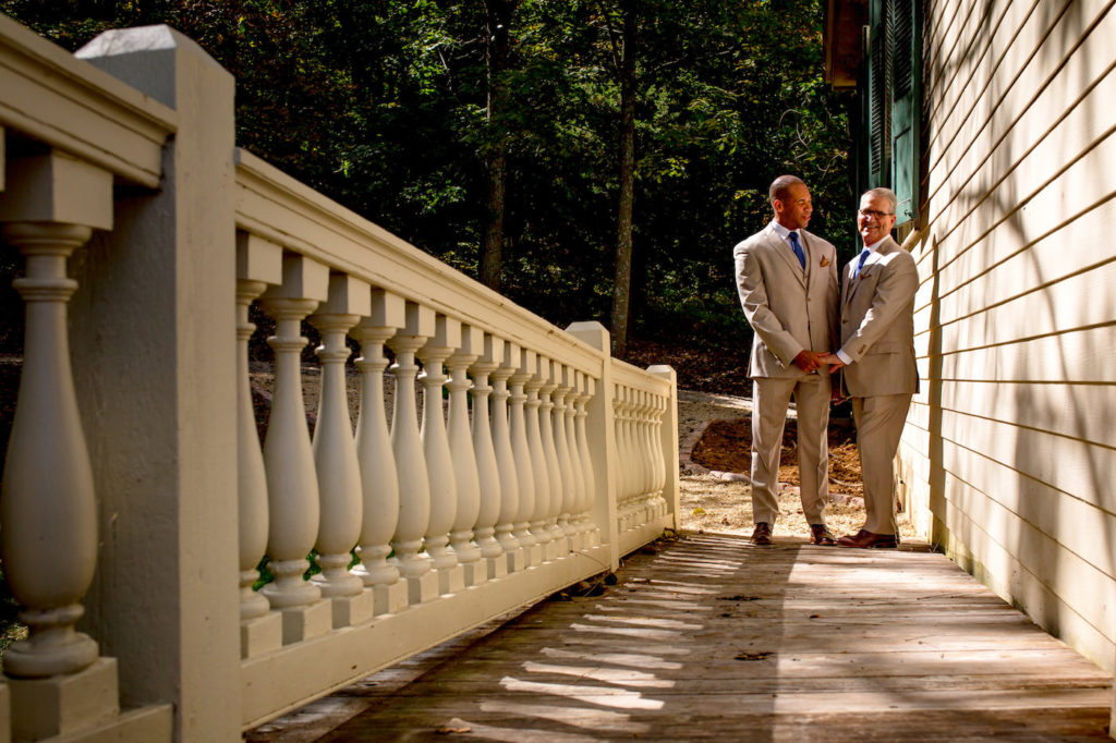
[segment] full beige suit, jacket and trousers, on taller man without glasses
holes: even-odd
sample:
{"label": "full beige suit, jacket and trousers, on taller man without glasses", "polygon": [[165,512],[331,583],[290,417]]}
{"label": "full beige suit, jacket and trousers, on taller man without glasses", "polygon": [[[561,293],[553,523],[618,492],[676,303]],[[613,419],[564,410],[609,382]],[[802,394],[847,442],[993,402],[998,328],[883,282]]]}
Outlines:
{"label": "full beige suit, jacket and trousers, on taller man without glasses", "polygon": [[825,523],[829,495],[829,375],[822,366],[807,374],[795,366],[804,349],[825,353],[837,345],[838,282],[834,247],[799,231],[804,269],[790,245],[769,224],[733,249],[737,289],[754,338],[749,359],[752,392],[752,517],[775,524],[779,450],[791,396],[798,411],[802,512]]}

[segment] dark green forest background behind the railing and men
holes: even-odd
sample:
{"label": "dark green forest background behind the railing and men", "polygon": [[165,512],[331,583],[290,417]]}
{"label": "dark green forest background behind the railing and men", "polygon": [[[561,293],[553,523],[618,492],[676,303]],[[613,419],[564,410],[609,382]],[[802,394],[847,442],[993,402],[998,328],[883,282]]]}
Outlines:
{"label": "dark green forest background behind the railing and men", "polygon": [[[680,387],[749,392],[732,247],[781,173],[855,251],[820,0],[0,0],[68,50],[169,23],[237,77],[237,142]],[[18,270],[7,254],[9,271]],[[4,282],[7,284],[7,282]],[[21,302],[0,297],[0,350]],[[9,311],[10,310],[10,311]]]}

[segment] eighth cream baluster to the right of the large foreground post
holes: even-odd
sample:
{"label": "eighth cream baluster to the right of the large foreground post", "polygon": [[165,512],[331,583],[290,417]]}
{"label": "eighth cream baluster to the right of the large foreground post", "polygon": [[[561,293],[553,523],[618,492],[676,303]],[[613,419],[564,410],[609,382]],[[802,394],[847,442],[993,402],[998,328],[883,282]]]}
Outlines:
{"label": "eighth cream baluster to the right of the large foreground post", "polygon": [[500,466],[492,443],[492,422],[489,416],[489,375],[500,365],[503,357],[503,340],[484,335],[484,355],[470,370],[473,374],[473,448],[477,451],[477,476],[480,482],[481,506],[477,514],[473,534],[481,557],[488,561],[488,578],[508,575],[508,561],[500,559],[503,548],[496,540],[496,521],[500,515]]}

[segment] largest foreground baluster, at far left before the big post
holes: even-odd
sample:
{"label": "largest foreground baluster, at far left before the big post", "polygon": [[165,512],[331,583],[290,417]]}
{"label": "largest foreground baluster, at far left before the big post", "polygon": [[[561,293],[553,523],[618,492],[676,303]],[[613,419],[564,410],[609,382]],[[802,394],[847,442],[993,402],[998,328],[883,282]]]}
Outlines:
{"label": "largest foreground baluster, at far left before the big post", "polygon": [[[21,187],[8,184],[3,199]],[[11,219],[18,212],[4,210]],[[4,578],[30,633],[4,653],[4,673],[76,674],[97,660],[97,643],[74,629],[97,561],[93,471],[70,369],[66,302],[77,283],[66,260],[88,226],[7,222],[4,240],[26,259],[12,286],[27,303],[23,369],[4,457],[0,522]],[[19,710],[15,711],[19,720]]]}

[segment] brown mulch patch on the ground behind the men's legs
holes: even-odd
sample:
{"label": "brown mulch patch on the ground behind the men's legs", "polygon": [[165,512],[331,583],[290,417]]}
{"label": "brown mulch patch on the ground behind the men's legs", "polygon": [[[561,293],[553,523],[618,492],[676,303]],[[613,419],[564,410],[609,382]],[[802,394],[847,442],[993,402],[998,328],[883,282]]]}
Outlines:
{"label": "brown mulch patch on the ground behind the men's legs", "polygon": [[[782,452],[779,457],[779,481],[799,484],[798,426],[788,418],[782,432]],[[720,472],[751,471],[751,418],[741,417],[710,422],[693,447],[691,460]],[[839,495],[863,495],[860,457],[856,452],[856,428],[844,418],[829,422],[829,491]]]}

